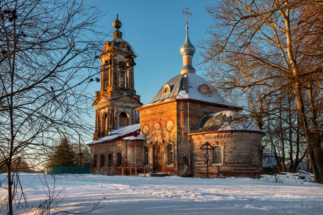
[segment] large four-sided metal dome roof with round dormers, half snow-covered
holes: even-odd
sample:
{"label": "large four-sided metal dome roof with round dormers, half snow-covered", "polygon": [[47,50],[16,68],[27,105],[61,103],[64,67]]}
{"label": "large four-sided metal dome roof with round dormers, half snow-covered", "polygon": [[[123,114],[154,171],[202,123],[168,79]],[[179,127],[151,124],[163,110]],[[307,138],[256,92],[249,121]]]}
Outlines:
{"label": "large four-sided metal dome roof with round dormers, half snow-covered", "polygon": [[[202,84],[205,84],[209,88],[212,88],[210,82],[195,73],[179,74],[169,80],[166,84],[164,84],[158,91],[152,102],[143,105],[143,107],[161,102],[167,102],[173,99],[194,99],[203,102],[210,102],[240,108],[238,105],[224,100],[217,92],[213,94],[202,94],[198,90],[199,86]],[[163,88],[165,85],[168,85],[170,87],[169,93],[163,93]]]}

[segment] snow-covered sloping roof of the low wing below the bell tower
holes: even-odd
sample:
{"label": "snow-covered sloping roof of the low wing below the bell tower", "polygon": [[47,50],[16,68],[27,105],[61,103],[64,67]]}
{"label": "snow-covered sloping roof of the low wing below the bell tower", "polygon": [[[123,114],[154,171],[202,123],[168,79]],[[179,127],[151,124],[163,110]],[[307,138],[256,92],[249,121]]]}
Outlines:
{"label": "snow-covered sloping roof of the low wing below the bell tower", "polygon": [[140,133],[140,124],[129,125],[126,127],[121,127],[116,130],[112,130],[105,137],[99,140],[88,143],[87,145],[101,143],[101,142],[111,142],[116,140],[144,140],[145,137]]}

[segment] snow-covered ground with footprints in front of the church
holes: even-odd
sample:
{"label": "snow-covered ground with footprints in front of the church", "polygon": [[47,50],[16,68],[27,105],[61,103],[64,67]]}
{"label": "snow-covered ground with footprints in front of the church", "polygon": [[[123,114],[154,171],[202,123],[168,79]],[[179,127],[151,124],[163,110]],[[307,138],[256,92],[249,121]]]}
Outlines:
{"label": "snow-covered ground with footprints in front of the church", "polygon": [[[48,175],[21,173],[28,198],[27,209],[37,208],[46,194]],[[201,179],[106,175],[61,175],[55,182],[60,210],[80,212],[93,207],[89,214],[322,214],[323,184],[294,178],[275,183],[250,178]],[[0,175],[0,180],[5,178]],[[302,183],[299,183],[302,182]],[[47,188],[45,187],[45,190]],[[3,199],[5,189],[0,189]],[[64,199],[63,199],[64,197]],[[307,202],[307,204],[306,204]],[[53,205],[53,204],[52,204]],[[67,207],[67,208],[63,208]],[[27,211],[27,212],[25,212]],[[57,210],[52,210],[52,213]],[[0,211],[5,214],[5,211]],[[34,214],[15,209],[14,214]],[[58,213],[63,214],[63,213]],[[66,214],[66,213],[64,213]]]}

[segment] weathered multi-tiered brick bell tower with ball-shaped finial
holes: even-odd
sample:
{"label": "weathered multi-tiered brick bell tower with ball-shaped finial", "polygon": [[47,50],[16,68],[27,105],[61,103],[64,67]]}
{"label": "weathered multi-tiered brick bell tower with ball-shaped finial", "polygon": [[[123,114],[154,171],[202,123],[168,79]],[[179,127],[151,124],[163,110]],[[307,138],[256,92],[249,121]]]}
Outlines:
{"label": "weathered multi-tiered brick bell tower with ball-shaped finial", "polygon": [[130,44],[122,39],[118,14],[112,25],[116,30],[113,40],[105,42],[100,56],[100,91],[95,92],[92,104],[96,111],[94,140],[108,135],[111,130],[139,123],[139,113],[135,109],[142,106],[134,85],[137,56]]}

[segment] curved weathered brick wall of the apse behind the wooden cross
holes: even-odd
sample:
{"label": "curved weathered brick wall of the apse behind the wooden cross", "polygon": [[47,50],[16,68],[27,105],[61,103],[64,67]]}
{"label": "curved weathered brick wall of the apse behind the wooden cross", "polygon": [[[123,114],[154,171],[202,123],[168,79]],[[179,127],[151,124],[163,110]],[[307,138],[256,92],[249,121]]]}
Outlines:
{"label": "curved weathered brick wall of the apse behind the wooden cross", "polygon": [[200,147],[209,142],[212,146],[221,146],[222,163],[212,164],[209,151],[209,177],[241,176],[258,177],[262,174],[263,135],[249,132],[221,132],[192,135],[193,142],[193,177],[206,175],[206,150]]}

